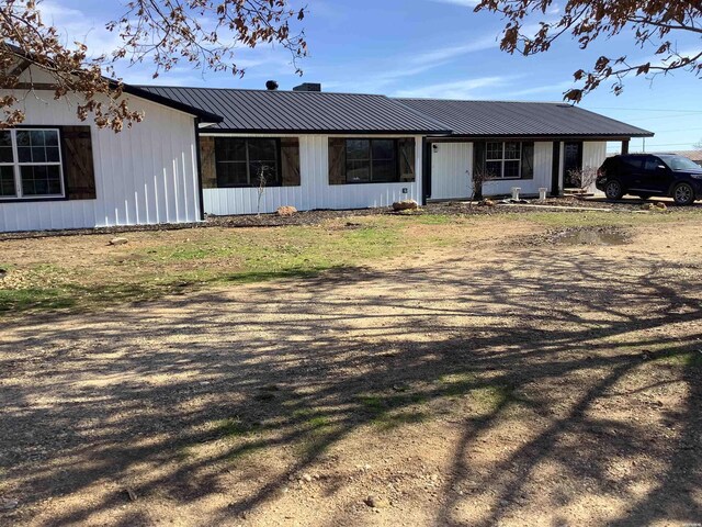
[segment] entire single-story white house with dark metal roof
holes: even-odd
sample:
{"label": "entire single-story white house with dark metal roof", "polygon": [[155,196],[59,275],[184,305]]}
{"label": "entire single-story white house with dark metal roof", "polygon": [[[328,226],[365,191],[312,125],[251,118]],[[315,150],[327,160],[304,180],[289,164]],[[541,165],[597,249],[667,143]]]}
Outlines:
{"label": "entire single-story white house with dark metal roof", "polygon": [[[115,134],[26,66],[26,119],[0,130],[0,232],[190,223],[205,214],[386,206],[520,187],[558,194],[608,141],[653,134],[563,103],[126,86],[145,120]],[[10,93],[0,90],[0,97]]]}

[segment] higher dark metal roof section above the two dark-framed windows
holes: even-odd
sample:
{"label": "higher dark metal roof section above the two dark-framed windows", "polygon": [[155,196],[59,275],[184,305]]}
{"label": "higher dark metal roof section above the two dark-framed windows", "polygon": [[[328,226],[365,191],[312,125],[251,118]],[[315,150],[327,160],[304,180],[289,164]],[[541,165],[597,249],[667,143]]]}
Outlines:
{"label": "higher dark metal roof section above the two dark-framed windows", "polygon": [[451,132],[442,123],[385,96],[161,86],[139,89],[222,115],[222,123],[207,128],[212,132],[421,135]]}

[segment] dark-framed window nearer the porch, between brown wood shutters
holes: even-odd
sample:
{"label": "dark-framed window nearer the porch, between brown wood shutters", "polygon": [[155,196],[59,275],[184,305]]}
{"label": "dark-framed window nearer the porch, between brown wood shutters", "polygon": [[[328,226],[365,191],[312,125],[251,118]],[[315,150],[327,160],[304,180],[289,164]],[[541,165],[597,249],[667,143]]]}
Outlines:
{"label": "dark-framed window nearer the porch, between brown wood shutters", "polygon": [[396,139],[347,139],[347,183],[399,181]]}

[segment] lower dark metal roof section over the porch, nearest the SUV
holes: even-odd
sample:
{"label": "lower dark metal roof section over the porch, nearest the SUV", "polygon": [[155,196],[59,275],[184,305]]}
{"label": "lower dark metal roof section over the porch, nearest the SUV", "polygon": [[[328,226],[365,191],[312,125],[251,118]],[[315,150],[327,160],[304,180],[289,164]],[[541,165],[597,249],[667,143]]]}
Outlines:
{"label": "lower dark metal roof section over the porch, nearest the SUV", "polygon": [[650,137],[647,130],[559,102],[396,99],[442,122],[453,135]]}

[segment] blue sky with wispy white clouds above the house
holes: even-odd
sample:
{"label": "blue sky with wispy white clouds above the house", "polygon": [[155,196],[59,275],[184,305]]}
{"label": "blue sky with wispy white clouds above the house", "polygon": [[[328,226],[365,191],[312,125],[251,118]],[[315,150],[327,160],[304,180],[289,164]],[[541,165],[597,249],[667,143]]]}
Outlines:
{"label": "blue sky with wispy white clouds above the house", "polygon": [[[242,49],[242,79],[178,67],[151,80],[149,65],[120,69],[126,82],[230,88],[263,88],[275,79],[282,89],[321,82],[326,91],[385,93],[397,97],[559,101],[573,86],[571,74],[598,56],[649,57],[653,48],[634,47],[629,35],[602,41],[587,51],[569,38],[540,56],[511,56],[499,51],[502,24],[489,13],[473,13],[473,0],[308,0],[303,22],[309,56],[295,76],[290,55],[260,46]],[[104,21],[122,12],[118,0],[45,0],[45,19],[67,40],[109,51],[116,36]],[[545,16],[553,16],[546,14]],[[699,49],[699,37],[680,35],[680,51]],[[630,78],[622,96],[611,83],[588,94],[582,108],[650,130],[646,149],[690,149],[702,138],[702,80],[687,72],[654,79]],[[611,145],[612,148],[615,145]],[[641,139],[632,148],[641,149]]]}

